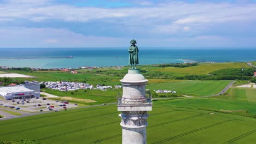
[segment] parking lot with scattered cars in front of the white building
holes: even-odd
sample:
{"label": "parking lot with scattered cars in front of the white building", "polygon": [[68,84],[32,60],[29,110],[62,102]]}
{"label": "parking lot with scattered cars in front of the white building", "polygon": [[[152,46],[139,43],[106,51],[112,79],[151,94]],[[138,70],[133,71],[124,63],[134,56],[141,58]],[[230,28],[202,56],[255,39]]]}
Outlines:
{"label": "parking lot with scattered cars in front of the white building", "polygon": [[[18,102],[18,103],[17,103]],[[66,104],[65,104],[66,103]],[[40,110],[43,111],[50,111],[52,109],[55,110],[64,110],[71,108],[71,107],[77,107],[78,105],[75,105],[74,103],[69,103],[68,101],[57,101],[57,100],[51,100],[48,98],[31,98],[31,99],[14,99],[14,100],[1,100],[0,101],[1,107],[6,106],[8,109],[15,110],[17,107],[20,108],[20,110],[17,111],[26,111],[26,112],[40,112]],[[7,106],[8,105],[8,106]],[[13,108],[9,108],[11,106],[14,106]],[[48,108],[49,107],[49,108]]]}

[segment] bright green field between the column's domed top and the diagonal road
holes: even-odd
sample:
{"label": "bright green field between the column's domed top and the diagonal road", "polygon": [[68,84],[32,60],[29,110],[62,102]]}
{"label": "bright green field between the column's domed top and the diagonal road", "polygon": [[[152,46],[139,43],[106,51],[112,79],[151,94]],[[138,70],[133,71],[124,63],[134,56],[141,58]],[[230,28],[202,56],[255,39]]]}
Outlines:
{"label": "bright green field between the column's domed top and the diagonal road", "polygon": [[152,83],[146,86],[150,90],[170,90],[177,94],[187,95],[212,95],[217,94],[231,81],[177,81],[165,83]]}

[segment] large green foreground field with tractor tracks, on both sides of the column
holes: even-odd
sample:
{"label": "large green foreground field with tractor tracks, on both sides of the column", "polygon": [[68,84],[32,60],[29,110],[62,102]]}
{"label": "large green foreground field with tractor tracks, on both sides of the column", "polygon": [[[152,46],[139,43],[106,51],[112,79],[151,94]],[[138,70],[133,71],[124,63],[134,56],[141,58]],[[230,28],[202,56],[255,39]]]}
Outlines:
{"label": "large green foreground field with tractor tracks, on both sides of the column", "polygon": [[[148,143],[251,143],[256,140],[254,118],[174,107],[175,101],[154,102],[148,118]],[[0,121],[0,139],[121,143],[119,113],[116,105],[107,105]]]}

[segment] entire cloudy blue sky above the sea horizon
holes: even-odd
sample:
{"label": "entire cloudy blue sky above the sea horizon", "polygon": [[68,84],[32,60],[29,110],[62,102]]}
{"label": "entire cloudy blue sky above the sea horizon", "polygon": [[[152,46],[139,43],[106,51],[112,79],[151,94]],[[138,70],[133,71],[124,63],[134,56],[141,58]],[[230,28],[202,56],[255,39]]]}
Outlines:
{"label": "entire cloudy blue sky above the sea horizon", "polygon": [[256,1],[0,0],[0,47],[255,47]]}

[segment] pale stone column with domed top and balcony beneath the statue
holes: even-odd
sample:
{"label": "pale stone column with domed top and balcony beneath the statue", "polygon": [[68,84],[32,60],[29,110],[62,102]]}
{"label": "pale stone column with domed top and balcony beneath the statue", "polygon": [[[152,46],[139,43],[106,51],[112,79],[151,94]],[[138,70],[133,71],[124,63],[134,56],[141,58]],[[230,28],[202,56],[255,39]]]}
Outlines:
{"label": "pale stone column with domed top and balcony beneath the statue", "polygon": [[148,82],[139,69],[129,69],[128,74],[120,80],[123,85],[123,96],[118,100],[118,111],[122,113],[123,144],[147,143],[147,111],[152,111],[152,103],[148,103],[145,86]]}

